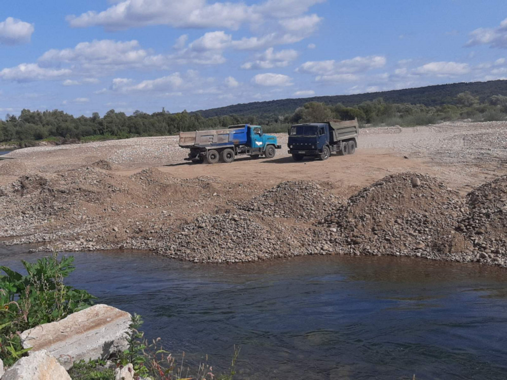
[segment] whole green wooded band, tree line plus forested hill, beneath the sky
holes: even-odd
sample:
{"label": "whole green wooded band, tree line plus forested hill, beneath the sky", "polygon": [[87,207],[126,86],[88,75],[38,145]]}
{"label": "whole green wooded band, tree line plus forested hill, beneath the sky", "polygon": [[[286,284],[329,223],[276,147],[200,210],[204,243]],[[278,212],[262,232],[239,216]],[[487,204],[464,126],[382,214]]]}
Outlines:
{"label": "whole green wooded band, tree line plus forested hill, beneath the sky", "polygon": [[[474,91],[454,94],[458,89],[467,88]],[[266,107],[261,111],[257,103],[248,103],[237,113],[216,116],[209,116],[212,110],[177,113],[162,110],[152,114],[135,111],[127,116],[124,112],[111,109],[102,117],[95,112],[91,117],[76,118],[57,109],[23,109],[19,116],[7,115],[5,121],[0,120],[0,142],[29,146],[36,140],[65,143],[161,136],[182,131],[227,128],[242,123],[262,125],[266,132],[273,133],[286,132],[291,124],[327,119],[357,118],[361,125],[416,126],[457,119],[502,121],[507,118],[507,81],[430,86],[377,95],[382,97],[359,94],[262,102],[281,104],[279,107],[272,104],[270,112],[265,112]],[[325,101],[322,98],[326,98]],[[346,100],[333,102],[328,98]],[[230,106],[229,109],[234,107]]]}

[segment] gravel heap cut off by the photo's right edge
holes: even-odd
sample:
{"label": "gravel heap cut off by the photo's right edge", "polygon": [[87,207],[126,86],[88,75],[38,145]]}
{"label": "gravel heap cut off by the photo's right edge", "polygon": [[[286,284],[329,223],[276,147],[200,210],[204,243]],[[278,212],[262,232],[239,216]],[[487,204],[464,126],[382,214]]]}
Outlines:
{"label": "gravel heap cut off by the photo's right edge", "polygon": [[507,262],[507,175],[479,186],[466,199],[470,211],[456,230],[474,244],[481,261]]}

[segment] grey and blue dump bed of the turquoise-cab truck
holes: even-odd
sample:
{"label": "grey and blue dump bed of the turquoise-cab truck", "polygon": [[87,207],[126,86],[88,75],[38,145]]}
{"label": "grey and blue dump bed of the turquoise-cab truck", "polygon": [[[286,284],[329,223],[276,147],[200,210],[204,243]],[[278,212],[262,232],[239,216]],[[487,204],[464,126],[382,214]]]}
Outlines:
{"label": "grey and blue dump bed of the turquoise-cab truck", "polygon": [[182,148],[191,148],[246,144],[248,125],[234,127],[235,128],[209,131],[180,132],[179,146]]}

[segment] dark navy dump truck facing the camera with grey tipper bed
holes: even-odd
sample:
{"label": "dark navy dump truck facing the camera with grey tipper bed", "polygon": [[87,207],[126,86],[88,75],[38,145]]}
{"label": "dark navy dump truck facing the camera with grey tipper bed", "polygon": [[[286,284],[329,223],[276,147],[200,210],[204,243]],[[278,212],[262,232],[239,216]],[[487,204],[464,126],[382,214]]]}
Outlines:
{"label": "dark navy dump truck facing the camera with grey tipper bed", "polygon": [[353,155],[357,147],[359,124],[350,121],[327,121],[293,125],[288,132],[288,153],[294,161],[305,157],[327,160],[332,152]]}

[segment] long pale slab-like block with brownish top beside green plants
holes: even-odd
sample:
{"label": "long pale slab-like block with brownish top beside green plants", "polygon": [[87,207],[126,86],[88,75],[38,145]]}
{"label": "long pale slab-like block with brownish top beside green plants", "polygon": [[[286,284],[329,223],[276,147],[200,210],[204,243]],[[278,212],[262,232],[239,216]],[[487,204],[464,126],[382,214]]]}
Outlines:
{"label": "long pale slab-like block with brownish top beside green plants", "polygon": [[107,305],[95,305],[61,321],[23,331],[21,339],[24,348],[33,348],[28,355],[47,350],[69,369],[76,361],[106,359],[126,350],[125,332],[129,325],[129,313]]}

